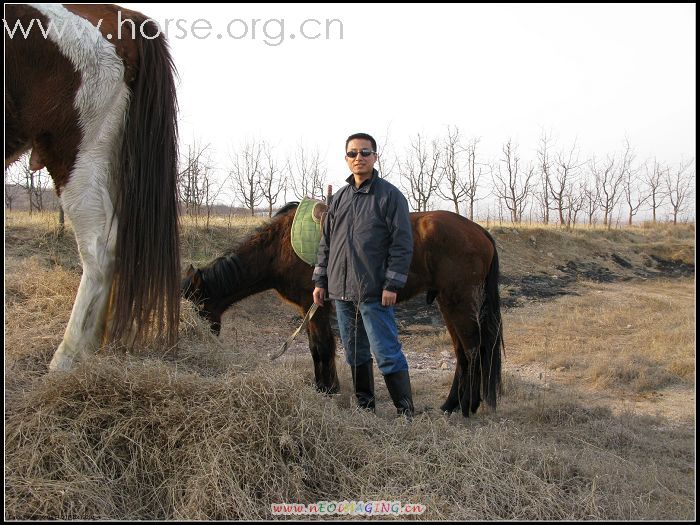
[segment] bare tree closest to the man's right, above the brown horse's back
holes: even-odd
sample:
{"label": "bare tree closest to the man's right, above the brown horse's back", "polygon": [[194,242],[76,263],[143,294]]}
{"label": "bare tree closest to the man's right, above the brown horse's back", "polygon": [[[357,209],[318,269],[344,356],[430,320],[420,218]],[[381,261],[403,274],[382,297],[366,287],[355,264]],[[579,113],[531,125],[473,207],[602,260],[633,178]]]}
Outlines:
{"label": "bare tree closest to the man's right, above the brown horse's back", "polygon": [[399,163],[402,187],[414,211],[428,211],[430,199],[440,185],[440,148],[436,141],[430,146],[419,133],[411,139],[406,159]]}

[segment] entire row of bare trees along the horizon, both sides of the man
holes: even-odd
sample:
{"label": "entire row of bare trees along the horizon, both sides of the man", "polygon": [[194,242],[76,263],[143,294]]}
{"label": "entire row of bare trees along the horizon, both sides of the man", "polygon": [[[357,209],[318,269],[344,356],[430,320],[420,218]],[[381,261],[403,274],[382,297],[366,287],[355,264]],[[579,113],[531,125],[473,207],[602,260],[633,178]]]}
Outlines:
{"label": "entire row of bare trees along the horizon, both sides of the man", "polygon": [[[519,223],[529,217],[567,227],[599,221],[610,227],[614,217],[632,224],[641,210],[651,212],[654,222],[663,211],[676,223],[686,211],[694,212],[694,161],[639,161],[628,140],[618,152],[582,158],[576,141],[556,148],[552,136],[542,133],[531,159],[523,159],[518,144],[508,139],[493,160],[482,155],[478,137],[465,139],[459,128],[448,127],[441,137],[411,137],[401,156],[389,152],[388,139],[378,149],[379,172],[403,189],[414,211],[449,206],[473,220],[486,201],[486,214],[482,205],[478,218]],[[248,141],[229,155],[227,166],[214,159],[208,144],[186,146],[178,180],[183,212],[205,217],[207,226],[217,205],[229,213],[242,206],[251,215],[271,216],[287,192],[297,199],[324,196],[327,169],[318,149],[298,145],[281,160],[270,143]],[[16,166],[5,176],[6,208],[24,193],[30,212],[41,211],[50,177],[31,171],[28,162]]]}

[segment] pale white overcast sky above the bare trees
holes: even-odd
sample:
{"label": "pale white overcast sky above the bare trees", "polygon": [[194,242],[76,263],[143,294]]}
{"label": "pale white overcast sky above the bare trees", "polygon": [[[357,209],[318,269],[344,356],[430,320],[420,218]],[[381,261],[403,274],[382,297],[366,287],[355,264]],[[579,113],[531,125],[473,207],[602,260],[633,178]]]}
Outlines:
{"label": "pale white overcast sky above the bare trees", "polygon": [[484,160],[508,138],[534,160],[543,129],[582,157],[625,137],[640,159],[695,157],[694,4],[124,5],[180,20],[181,142],[211,143],[222,170],[246,139],[303,143],[337,188],[349,134],[389,130],[400,154],[448,125]]}

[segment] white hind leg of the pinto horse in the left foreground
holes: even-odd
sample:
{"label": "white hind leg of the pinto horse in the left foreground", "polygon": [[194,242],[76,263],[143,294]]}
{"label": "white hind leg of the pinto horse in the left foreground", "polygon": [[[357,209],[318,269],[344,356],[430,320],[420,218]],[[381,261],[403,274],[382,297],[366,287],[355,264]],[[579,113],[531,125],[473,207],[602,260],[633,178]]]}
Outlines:
{"label": "white hind leg of the pinto horse in the left foreground", "polygon": [[[70,94],[71,100],[64,104],[53,101],[53,93],[49,94],[55,108],[49,108],[45,118],[53,125],[47,124],[46,132],[35,137],[40,151],[33,152],[41,154],[54,179],[83,265],[63,341],[49,364],[51,370],[67,370],[99,348],[105,331],[116,255],[114,178],[130,90],[125,83],[124,60],[97,28],[65,7],[43,5],[36,9],[53,23],[82,29],[50,38],[48,50],[57,51],[52,52],[65,69],[65,76],[58,77],[63,83],[52,84],[52,89],[63,96]],[[78,133],[69,133],[72,128],[64,122],[54,122],[56,108],[64,110]],[[69,134],[76,140],[72,148],[65,148],[61,141]]]}

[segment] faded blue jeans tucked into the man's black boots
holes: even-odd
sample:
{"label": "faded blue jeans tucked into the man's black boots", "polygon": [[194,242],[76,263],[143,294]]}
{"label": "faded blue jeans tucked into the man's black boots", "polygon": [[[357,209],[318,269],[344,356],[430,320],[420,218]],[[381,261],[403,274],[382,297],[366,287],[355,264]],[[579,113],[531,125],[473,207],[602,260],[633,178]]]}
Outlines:
{"label": "faded blue jeans tucked into the man's black boots", "polygon": [[408,370],[399,343],[393,306],[382,306],[381,302],[375,301],[360,303],[358,308],[351,301],[336,300],[335,311],[345,359],[350,366],[363,365],[374,354],[382,375]]}

